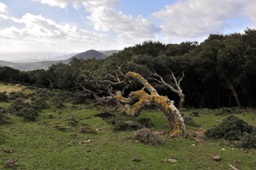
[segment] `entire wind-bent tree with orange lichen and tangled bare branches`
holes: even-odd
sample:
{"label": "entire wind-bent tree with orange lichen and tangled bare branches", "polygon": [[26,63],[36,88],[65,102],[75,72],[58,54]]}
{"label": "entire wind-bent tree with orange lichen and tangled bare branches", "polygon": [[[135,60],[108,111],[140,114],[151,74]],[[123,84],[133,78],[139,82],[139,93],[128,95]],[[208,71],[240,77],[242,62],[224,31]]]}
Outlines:
{"label": "entire wind-bent tree with orange lichen and tangled bare branches", "polygon": [[[165,114],[169,122],[169,134],[184,132],[184,120],[174,106],[174,101],[170,101],[167,96],[159,95],[156,89],[141,75],[131,71],[124,75],[121,67],[122,65],[115,71],[105,73],[104,76],[87,72],[87,74],[83,74],[83,83],[80,83],[79,79],[77,80],[77,86],[81,87],[84,92],[92,94],[96,100],[103,102],[115,100],[121,112],[130,116],[138,116],[143,107],[154,105]],[[91,85],[92,83],[95,84],[94,90],[88,90],[84,87],[84,85]],[[143,88],[132,91],[127,98],[123,97],[125,90],[132,88],[134,83],[135,85],[140,83],[143,85]],[[114,88],[112,86],[115,86],[116,90],[113,90]],[[99,94],[108,94],[108,96],[99,97]]]}

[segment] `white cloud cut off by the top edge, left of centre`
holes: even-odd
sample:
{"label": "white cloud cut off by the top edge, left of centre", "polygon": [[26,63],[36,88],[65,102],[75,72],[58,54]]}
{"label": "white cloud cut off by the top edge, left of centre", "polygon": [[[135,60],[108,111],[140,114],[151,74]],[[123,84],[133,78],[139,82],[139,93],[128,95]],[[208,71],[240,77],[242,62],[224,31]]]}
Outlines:
{"label": "white cloud cut off by the top edge, left of centre", "polygon": [[50,6],[58,6],[60,8],[66,8],[68,4],[72,4],[74,8],[78,9],[81,6],[85,8],[91,8],[95,6],[112,6],[116,5],[118,0],[31,0],[38,1],[42,4],[48,4]]}

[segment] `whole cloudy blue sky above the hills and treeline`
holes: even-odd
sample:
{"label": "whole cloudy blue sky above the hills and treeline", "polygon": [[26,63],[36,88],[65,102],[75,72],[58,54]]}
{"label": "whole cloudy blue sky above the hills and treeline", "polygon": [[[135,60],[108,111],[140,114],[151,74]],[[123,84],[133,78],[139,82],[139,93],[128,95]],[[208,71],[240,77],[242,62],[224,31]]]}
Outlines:
{"label": "whole cloudy blue sky above the hills and treeline", "polygon": [[255,0],[0,0],[0,60],[202,42],[255,28],[255,9]]}

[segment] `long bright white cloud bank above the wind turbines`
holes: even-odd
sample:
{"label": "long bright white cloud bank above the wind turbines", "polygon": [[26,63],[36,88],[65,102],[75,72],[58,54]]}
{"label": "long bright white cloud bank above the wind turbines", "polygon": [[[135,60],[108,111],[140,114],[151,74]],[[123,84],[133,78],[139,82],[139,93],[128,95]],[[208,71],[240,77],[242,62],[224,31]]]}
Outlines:
{"label": "long bright white cloud bank above the wind turbines", "polygon": [[98,34],[94,31],[80,29],[69,24],[57,24],[54,21],[26,13],[22,18],[11,17],[16,23],[22,23],[25,27],[19,29],[14,26],[0,30],[0,43],[7,44],[48,44],[57,46],[100,45],[106,41],[108,35]]}

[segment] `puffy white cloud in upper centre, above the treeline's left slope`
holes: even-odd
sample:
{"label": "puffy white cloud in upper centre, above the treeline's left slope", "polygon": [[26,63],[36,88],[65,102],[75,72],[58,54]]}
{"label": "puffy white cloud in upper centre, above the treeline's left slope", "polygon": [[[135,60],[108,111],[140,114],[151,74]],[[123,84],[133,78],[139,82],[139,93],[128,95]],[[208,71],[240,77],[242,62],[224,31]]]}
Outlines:
{"label": "puffy white cloud in upper centre, above the treeline's left slope", "polygon": [[137,18],[125,15],[121,11],[117,12],[109,7],[93,7],[88,9],[91,12],[87,16],[97,31],[114,30],[132,38],[154,38],[154,33],[159,33],[161,28],[156,27],[151,21],[139,15]]}

